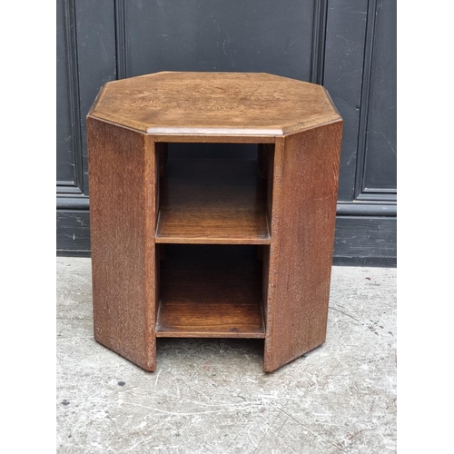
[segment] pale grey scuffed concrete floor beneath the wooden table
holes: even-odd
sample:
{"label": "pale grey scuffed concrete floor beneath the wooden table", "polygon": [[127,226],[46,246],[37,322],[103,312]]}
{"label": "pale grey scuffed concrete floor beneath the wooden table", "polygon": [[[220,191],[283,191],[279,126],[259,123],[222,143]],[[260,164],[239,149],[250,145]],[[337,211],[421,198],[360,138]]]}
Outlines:
{"label": "pale grey scuffed concrete floor beneath the wooden table", "polygon": [[57,452],[396,451],[396,270],[334,267],[326,343],[160,339],[145,372],[93,337],[90,259],[57,259]]}

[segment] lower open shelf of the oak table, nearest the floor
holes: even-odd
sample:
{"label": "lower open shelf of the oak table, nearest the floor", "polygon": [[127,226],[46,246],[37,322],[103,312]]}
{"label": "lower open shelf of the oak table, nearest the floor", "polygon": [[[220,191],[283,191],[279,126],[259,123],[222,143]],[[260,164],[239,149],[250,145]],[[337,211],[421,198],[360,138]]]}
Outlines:
{"label": "lower open shelf of the oak table, nearest the floor", "polygon": [[264,338],[255,248],[166,246],[156,337]]}

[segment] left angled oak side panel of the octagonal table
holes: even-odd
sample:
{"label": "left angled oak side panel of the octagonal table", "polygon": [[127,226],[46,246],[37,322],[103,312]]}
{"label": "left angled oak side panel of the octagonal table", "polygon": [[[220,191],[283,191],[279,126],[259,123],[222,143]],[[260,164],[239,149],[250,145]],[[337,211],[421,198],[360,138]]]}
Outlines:
{"label": "left angled oak side panel of the octagonal table", "polygon": [[94,339],[155,368],[153,137],[88,118]]}

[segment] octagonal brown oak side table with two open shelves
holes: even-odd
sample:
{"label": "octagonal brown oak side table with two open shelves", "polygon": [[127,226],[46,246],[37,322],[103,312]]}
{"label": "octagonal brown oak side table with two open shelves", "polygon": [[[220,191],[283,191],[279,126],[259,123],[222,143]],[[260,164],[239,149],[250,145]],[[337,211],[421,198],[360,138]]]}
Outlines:
{"label": "octagonal brown oak side table with two open shelves", "polygon": [[325,341],[342,120],[321,85],[147,74],[105,84],[87,123],[96,341],[155,370],[158,337],[261,338],[267,372]]}

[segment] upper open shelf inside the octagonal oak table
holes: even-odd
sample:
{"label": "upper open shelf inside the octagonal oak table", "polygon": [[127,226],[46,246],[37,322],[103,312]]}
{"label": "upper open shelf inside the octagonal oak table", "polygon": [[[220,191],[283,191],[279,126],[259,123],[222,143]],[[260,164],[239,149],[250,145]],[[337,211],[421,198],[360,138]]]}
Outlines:
{"label": "upper open shelf inside the octagonal oak table", "polygon": [[257,162],[169,160],[155,242],[269,244],[266,183]]}

